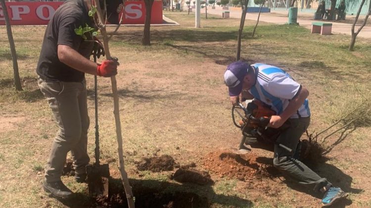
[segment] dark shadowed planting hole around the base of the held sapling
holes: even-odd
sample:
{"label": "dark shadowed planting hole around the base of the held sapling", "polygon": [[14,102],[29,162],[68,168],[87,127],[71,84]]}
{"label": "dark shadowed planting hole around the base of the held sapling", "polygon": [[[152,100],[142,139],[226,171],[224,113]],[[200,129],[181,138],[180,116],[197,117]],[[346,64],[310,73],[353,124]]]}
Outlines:
{"label": "dark shadowed planting hole around the base of the held sapling", "polygon": [[[152,179],[129,179],[135,197],[136,208],[208,208],[213,204],[224,207],[252,207],[249,200],[236,196],[216,194],[209,185],[175,182]],[[90,198],[88,192],[76,193],[70,200],[58,200],[71,208],[110,207],[127,208],[125,190],[120,178],[110,178],[109,197]]]}

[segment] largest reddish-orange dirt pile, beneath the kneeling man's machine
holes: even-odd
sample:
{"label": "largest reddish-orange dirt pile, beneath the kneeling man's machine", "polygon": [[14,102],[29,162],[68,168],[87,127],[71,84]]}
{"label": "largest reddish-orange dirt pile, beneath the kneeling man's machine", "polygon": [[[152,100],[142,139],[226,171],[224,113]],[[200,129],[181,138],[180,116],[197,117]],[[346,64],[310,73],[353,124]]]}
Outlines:
{"label": "largest reddish-orange dirt pile, beneath the kneeling man's machine", "polygon": [[230,152],[218,151],[209,153],[202,159],[203,167],[219,177],[247,181],[252,178],[271,178],[277,175],[273,164],[257,162],[257,156],[254,153],[239,156]]}

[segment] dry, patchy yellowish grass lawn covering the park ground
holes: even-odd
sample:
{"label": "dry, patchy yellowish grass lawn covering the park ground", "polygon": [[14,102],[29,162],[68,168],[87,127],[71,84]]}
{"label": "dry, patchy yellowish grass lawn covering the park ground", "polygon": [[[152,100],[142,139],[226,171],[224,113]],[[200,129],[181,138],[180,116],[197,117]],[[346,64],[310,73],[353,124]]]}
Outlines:
{"label": "dry, patchy yellowish grass lawn covering the park ground", "polygon": [[[129,177],[140,180],[168,181],[168,173],[144,171],[139,176],[135,161],[144,156],[168,154],[181,164],[195,162],[200,166],[201,156],[234,148],[240,139],[239,130],[232,124],[231,106],[222,78],[226,65],[234,59],[239,20],[211,16],[201,20],[202,28],[195,29],[194,17],[185,12],[166,16],[181,25],[152,27],[151,47],[139,45],[142,27],[122,27],[111,42],[111,53],[121,63],[117,80],[125,165]],[[298,26],[259,24],[256,38],[250,39],[252,27],[253,22],[246,22],[241,57],[282,66],[309,88],[311,130],[322,129],[333,122],[334,106],[350,98],[344,95],[355,95],[356,89],[370,89],[369,40],[358,39],[356,50],[362,53],[360,57],[346,50],[348,36],[317,36]],[[14,92],[8,43],[2,38],[0,123],[7,117],[23,119],[11,122],[0,134],[0,207],[60,207],[60,202],[48,198],[41,189],[40,169],[46,163],[56,133],[52,115],[36,84],[35,68],[45,27],[12,29],[20,75],[26,82],[24,92]],[[0,36],[6,37],[4,27],[0,27]],[[99,78],[98,83],[102,162],[109,163],[111,174],[118,178],[110,82]],[[87,85],[93,126],[92,76],[87,75]],[[351,207],[370,205],[370,133],[370,127],[362,127],[349,134],[329,154],[332,160],[319,168],[321,175],[351,192]],[[339,137],[335,134],[329,142]],[[93,128],[89,138],[88,151],[93,161]],[[206,193],[215,207],[242,207],[241,199],[251,200],[258,207],[318,204],[310,195],[279,181],[270,182],[282,190],[279,197],[274,197],[254,189],[247,192],[244,182],[228,178],[215,180],[212,187],[193,187],[195,192]],[[82,205],[87,203],[86,185],[76,184],[71,177],[64,177],[63,181],[82,197]],[[226,198],[221,198],[222,195],[231,202],[223,202],[221,199]],[[290,196],[295,196],[295,200]]]}

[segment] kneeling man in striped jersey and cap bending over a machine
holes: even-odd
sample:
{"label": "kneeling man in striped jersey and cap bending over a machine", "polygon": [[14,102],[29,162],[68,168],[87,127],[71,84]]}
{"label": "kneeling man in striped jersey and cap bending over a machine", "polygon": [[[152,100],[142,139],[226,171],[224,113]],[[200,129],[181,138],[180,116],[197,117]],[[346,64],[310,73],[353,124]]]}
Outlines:
{"label": "kneeling man in striped jersey and cap bending over a machine", "polygon": [[[308,128],[311,112],[308,104],[308,90],[295,82],[282,69],[262,63],[249,65],[242,61],[231,63],[224,73],[224,80],[229,87],[232,104],[238,104],[241,93],[246,99],[257,99],[271,106],[277,115],[271,117],[268,127],[279,128],[283,123],[289,127],[281,131],[277,142],[291,150],[296,150],[301,135]],[[346,198],[347,193],[333,187],[325,178],[294,158],[295,151],[289,153],[274,147],[274,166],[284,174],[296,179],[300,184],[324,193],[324,206],[336,200]]]}

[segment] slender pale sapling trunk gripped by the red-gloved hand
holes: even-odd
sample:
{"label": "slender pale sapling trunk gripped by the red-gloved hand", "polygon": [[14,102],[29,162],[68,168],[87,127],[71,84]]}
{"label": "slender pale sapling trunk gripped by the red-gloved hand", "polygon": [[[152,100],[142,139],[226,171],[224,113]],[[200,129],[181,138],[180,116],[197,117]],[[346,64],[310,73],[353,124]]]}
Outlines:
{"label": "slender pale sapling trunk gripped by the red-gloved hand", "polygon": [[[98,15],[98,19],[100,23],[99,30],[103,37],[103,47],[104,47],[105,55],[107,59],[110,59],[111,54],[109,52],[108,36],[107,36],[106,28],[105,28],[105,19],[103,18],[103,12],[100,8],[99,0],[94,0],[94,2],[96,6],[96,13]],[[128,200],[128,207],[135,208],[132,187],[130,186],[128,173],[125,171],[125,166],[124,166],[124,154],[122,150],[122,133],[121,133],[121,121],[120,121],[120,107],[119,107],[119,96],[117,93],[116,76],[111,77],[111,85],[112,85],[113,105],[114,105],[113,114],[115,115],[115,124],[116,124],[117,153],[118,153],[117,155],[118,155],[119,170],[121,174],[121,182],[125,189],[126,198]]]}

